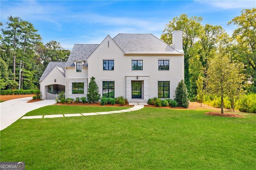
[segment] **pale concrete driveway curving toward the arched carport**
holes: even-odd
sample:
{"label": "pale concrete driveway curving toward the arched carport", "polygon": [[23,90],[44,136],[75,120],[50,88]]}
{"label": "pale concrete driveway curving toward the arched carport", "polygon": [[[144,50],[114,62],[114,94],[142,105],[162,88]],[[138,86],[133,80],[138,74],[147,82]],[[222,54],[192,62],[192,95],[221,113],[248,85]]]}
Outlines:
{"label": "pale concrete driveway curving toward the arched carport", "polygon": [[18,98],[0,103],[1,129],[7,128],[21,116],[37,108],[56,103],[55,100],[42,100],[34,103],[27,103],[32,97]]}

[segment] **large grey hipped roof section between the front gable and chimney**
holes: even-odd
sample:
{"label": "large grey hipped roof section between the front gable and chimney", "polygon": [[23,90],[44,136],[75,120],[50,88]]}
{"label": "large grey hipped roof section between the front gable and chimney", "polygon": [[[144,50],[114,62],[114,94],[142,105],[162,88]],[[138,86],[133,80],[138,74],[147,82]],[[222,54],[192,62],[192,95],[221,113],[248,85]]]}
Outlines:
{"label": "large grey hipped roof section between the front gable and chimney", "polygon": [[125,54],[183,54],[152,34],[118,34],[113,40]]}

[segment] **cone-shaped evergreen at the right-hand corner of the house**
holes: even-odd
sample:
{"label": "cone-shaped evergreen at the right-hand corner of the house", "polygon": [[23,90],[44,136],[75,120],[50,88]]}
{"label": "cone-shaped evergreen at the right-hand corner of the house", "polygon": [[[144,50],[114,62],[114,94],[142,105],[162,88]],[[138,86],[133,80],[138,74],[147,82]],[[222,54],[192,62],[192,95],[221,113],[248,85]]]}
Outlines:
{"label": "cone-shaped evergreen at the right-hand corner of the house", "polygon": [[178,106],[188,108],[188,89],[183,80],[181,80],[175,90],[174,100],[178,103]]}

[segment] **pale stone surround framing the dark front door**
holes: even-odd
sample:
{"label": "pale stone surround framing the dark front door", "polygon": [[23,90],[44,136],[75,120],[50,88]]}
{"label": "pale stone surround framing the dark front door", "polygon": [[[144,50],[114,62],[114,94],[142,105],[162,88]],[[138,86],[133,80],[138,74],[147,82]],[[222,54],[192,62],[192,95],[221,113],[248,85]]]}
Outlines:
{"label": "pale stone surround framing the dark front door", "polygon": [[149,86],[148,86],[148,80],[149,76],[142,75],[127,75],[126,77],[126,98],[130,102],[132,99],[132,81],[141,81],[141,91],[142,91],[142,98],[145,101],[148,101],[149,99]]}

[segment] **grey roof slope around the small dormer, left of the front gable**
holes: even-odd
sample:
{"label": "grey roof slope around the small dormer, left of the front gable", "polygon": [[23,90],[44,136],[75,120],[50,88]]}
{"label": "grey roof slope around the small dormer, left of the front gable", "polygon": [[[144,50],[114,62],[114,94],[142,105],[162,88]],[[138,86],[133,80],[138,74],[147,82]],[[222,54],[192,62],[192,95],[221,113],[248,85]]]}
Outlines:
{"label": "grey roof slope around the small dormer, left of the front gable", "polygon": [[[75,44],[68,57],[66,67],[74,67],[74,61],[77,59],[86,60],[99,44]],[[84,65],[87,66],[87,63]]]}

